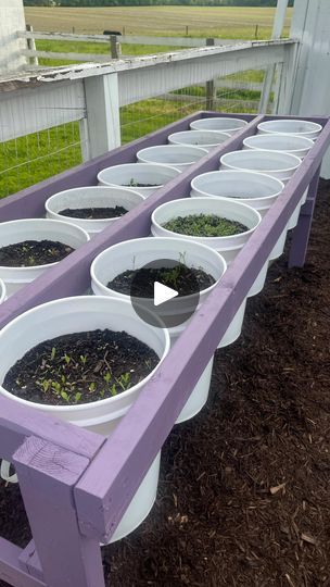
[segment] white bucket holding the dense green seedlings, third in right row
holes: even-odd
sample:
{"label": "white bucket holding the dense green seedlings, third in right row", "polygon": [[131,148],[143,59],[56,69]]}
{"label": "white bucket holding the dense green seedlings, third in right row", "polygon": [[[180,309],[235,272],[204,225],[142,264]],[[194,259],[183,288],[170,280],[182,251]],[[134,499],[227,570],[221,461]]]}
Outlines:
{"label": "white bucket holding the dense green seedlings, third in right row", "polygon": [[[190,214],[218,214],[228,220],[237,221],[249,227],[249,230],[240,235],[229,237],[195,237],[173,233],[163,227],[163,224],[177,217],[188,216]],[[256,210],[246,204],[226,200],[225,198],[183,198],[172,202],[166,202],[152,214],[151,232],[155,237],[170,236],[173,238],[182,238],[183,240],[194,240],[202,242],[212,249],[218,251],[226,260],[227,264],[236,258],[241,248],[249,240],[250,236],[256,229],[262,221],[262,216]],[[259,275],[256,279],[264,280],[265,276]],[[258,287],[258,285],[256,285]],[[243,301],[237,314],[232,319],[227,332],[219,342],[219,347],[225,347],[233,342],[241,334],[244,317],[246,300]]]}

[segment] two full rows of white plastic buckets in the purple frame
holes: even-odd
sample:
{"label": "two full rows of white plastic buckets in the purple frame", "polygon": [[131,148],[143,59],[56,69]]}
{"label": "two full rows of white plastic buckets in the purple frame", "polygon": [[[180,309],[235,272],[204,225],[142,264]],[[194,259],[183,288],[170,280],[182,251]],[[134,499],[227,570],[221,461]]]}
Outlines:
{"label": "two full rows of white plastic buckets in the purple frame", "polygon": [[[207,150],[227,140],[228,135],[234,134],[245,124],[239,118],[225,117],[195,121],[191,123],[191,130],[170,135],[169,145],[139,151],[137,163],[116,165],[101,171],[98,175],[98,186],[75,188],[53,195],[46,202],[46,218],[2,223],[0,247],[28,239],[47,238],[78,248],[106,225],[116,222],[116,218],[102,221],[67,218],[59,214],[61,210],[115,205],[131,210],[151,192],[181,173],[188,164],[204,157]],[[97,328],[126,330],[137,337],[156,352],[160,358],[156,366],[158,369],[189,321],[169,329],[161,327],[161,324],[160,327],[151,326],[136,314],[128,296],[109,289],[106,284],[127,270],[139,268],[164,258],[179,261],[183,255],[186,265],[203,268],[215,280],[213,286],[201,291],[199,302],[201,305],[257,228],[262,217],[281,193],[284,184],[295,173],[320,130],[319,125],[307,121],[278,120],[262,123],[256,135],[244,139],[242,150],[226,153],[220,158],[218,171],[193,178],[190,198],[169,201],[155,209],[151,217],[150,237],[120,242],[94,259],[90,268],[93,296],[48,302],[9,323],[0,333],[2,358],[0,382],[3,382],[7,372],[18,359],[41,341]],[[178,142],[179,140],[182,142]],[[248,297],[263,289],[268,263],[282,253],[287,232],[295,226],[305,197],[306,195],[302,196]],[[174,217],[201,213],[239,222],[246,226],[248,230],[230,237],[191,237],[173,233],[163,226]],[[49,265],[0,267],[2,278],[0,301],[31,282],[48,267]],[[218,348],[232,344],[240,336],[245,304],[246,299],[218,341]],[[205,404],[212,366],[213,358],[192,390],[177,423],[190,420]],[[3,387],[0,387],[0,392],[14,401],[33,405],[37,410],[109,436],[155,371],[118,396],[80,405],[30,403],[12,396]],[[118,540],[132,532],[150,512],[156,497],[160,457],[161,452],[144,476],[110,541]],[[1,474],[7,480],[17,480],[10,475],[9,464],[4,461]]]}

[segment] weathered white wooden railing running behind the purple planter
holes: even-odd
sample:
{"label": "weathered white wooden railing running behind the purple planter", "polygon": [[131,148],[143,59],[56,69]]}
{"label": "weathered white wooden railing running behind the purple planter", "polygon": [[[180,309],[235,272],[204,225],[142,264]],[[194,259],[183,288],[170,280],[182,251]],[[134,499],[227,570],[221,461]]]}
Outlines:
{"label": "weathered white wooden railing running behind the purple planter", "polygon": [[[0,79],[0,143],[52,127],[60,128],[61,125],[67,128],[65,125],[78,122],[82,159],[87,160],[120,145],[120,110],[123,130],[123,112],[130,104],[137,104],[138,112],[141,101],[157,102],[162,113],[164,104],[167,104],[163,101],[164,96],[170,92],[202,85],[210,89],[215,87],[210,80],[246,70],[266,70],[270,65],[276,65],[278,72],[272,104],[276,111],[280,109],[284,113],[291,100],[296,47],[296,41],[290,39],[244,41],[134,60],[128,58],[16,73]],[[233,80],[231,83],[234,85]],[[223,102],[216,102],[210,93],[201,97],[189,91],[185,93],[190,101],[187,103],[187,98],[181,100],[177,117],[205,108],[226,109],[225,93]],[[173,96],[175,98],[172,99],[177,100],[176,95]],[[236,110],[231,111],[239,111],[239,104],[243,105],[243,102],[238,100]],[[257,105],[254,107],[257,110]],[[144,115],[147,123],[153,115],[151,110],[148,111]],[[166,122],[172,121],[160,122],[160,125]],[[148,132],[147,123],[143,134]],[[76,145],[75,137],[71,145]],[[54,148],[55,157],[60,157],[63,148],[62,141]],[[20,161],[18,146],[16,151],[15,164],[10,167],[13,170],[26,164]],[[33,160],[39,159],[42,165],[43,157],[38,152],[33,154]]]}

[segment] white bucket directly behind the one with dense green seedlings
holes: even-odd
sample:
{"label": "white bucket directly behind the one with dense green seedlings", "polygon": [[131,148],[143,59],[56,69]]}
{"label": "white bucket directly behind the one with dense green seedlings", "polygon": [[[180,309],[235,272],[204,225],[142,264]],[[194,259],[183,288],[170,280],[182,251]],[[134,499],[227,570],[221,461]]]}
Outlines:
{"label": "white bucket directly behind the one with dense green seedlings", "polygon": [[[278,196],[284,188],[284,184],[266,175],[264,173],[250,171],[224,170],[218,172],[210,172],[199,175],[191,182],[192,198],[211,197],[211,198],[237,198],[240,202],[249,204],[258,211],[261,216],[265,216],[269,208],[276,202]],[[269,261],[277,259],[282,254],[287,238],[288,227],[284,228],[277,245],[272,249]],[[268,270],[268,261],[265,263],[261,274],[264,275],[264,283]],[[249,291],[249,296],[255,296],[263,289],[264,284],[262,276],[255,282]]]}

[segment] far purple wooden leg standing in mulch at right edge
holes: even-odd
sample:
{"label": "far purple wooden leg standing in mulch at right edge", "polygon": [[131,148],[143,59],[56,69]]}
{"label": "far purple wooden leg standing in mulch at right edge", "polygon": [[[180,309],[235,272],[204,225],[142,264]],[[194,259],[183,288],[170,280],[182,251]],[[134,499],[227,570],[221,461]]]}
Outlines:
{"label": "far purple wooden leg standing in mulch at right edge", "polygon": [[303,267],[305,264],[320,168],[321,167],[319,166],[309,184],[306,203],[302,207],[299,223],[293,230],[289,255],[289,267]]}

